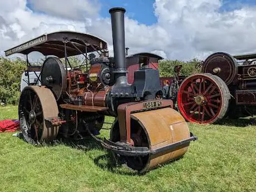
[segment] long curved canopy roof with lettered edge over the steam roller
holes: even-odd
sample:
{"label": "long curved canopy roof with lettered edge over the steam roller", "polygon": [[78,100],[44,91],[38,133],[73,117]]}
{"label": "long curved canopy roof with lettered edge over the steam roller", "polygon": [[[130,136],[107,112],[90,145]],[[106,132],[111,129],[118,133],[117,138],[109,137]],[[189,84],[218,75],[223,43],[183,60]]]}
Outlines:
{"label": "long curved canopy roof with lettered edge over the steam roller", "polygon": [[[67,56],[80,55],[82,53],[100,51],[107,48],[107,43],[99,37],[88,35],[86,33],[73,31],[58,31],[53,33],[46,33],[45,35],[34,38],[33,40],[22,43],[19,46],[13,47],[7,51],[6,56],[14,53],[22,53],[27,55],[33,51],[38,51],[43,55],[54,55],[59,58],[65,57],[66,41]],[[75,45],[80,51],[78,51]],[[92,47],[93,46],[93,47]]]}

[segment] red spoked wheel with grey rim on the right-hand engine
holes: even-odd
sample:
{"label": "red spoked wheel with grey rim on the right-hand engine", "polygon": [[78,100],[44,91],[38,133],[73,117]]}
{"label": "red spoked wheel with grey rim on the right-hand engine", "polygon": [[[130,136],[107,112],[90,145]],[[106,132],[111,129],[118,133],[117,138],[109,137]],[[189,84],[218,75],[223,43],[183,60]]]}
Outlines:
{"label": "red spoked wheel with grey rim on the right-hand engine", "polygon": [[196,124],[213,124],[222,119],[228,111],[229,100],[228,86],[210,73],[187,77],[178,92],[180,113]]}

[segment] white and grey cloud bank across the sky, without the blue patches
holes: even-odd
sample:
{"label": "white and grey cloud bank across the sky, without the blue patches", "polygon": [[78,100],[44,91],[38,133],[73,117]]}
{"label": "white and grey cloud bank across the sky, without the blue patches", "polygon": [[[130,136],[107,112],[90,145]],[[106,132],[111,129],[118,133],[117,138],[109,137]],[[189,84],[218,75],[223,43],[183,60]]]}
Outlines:
{"label": "white and grey cloud bank across the sky, without the blue patches", "polygon": [[[99,2],[29,0],[29,3],[35,11],[26,7],[26,0],[0,0],[1,54],[2,50],[43,33],[66,29],[99,36],[112,50],[110,18],[99,16],[100,8],[104,8]],[[129,53],[152,52],[165,58],[188,60],[205,58],[216,51],[256,51],[256,7],[220,12],[221,6],[221,0],[156,0],[157,23],[146,26],[125,18]]]}

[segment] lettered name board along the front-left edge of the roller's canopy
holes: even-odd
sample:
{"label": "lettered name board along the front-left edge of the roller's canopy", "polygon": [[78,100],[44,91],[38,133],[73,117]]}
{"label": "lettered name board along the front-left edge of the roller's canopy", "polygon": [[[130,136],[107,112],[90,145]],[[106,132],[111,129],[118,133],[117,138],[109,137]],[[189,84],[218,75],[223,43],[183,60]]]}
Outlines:
{"label": "lettered name board along the front-left edge of the roller's canopy", "polygon": [[22,50],[26,50],[27,48],[36,46],[36,45],[41,44],[41,43],[46,42],[46,41],[47,41],[47,36],[46,35],[42,36],[42,37],[38,37],[35,40],[31,40],[31,41],[28,41],[26,43],[23,43],[20,46],[11,48],[11,50],[7,50],[5,53],[6,53],[6,56],[12,55],[13,53],[19,53]]}

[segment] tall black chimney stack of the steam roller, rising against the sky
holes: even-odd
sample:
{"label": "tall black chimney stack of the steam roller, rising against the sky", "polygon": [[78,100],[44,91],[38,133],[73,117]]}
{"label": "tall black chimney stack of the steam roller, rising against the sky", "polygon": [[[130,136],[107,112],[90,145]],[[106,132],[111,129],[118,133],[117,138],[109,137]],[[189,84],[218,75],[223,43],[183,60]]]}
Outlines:
{"label": "tall black chimney stack of the steam roller, rising against the sky", "polygon": [[[115,57],[115,89],[117,87],[126,87],[127,68],[125,62],[125,9],[121,7],[111,8],[112,38]],[[117,91],[117,90],[116,90]]]}

